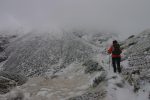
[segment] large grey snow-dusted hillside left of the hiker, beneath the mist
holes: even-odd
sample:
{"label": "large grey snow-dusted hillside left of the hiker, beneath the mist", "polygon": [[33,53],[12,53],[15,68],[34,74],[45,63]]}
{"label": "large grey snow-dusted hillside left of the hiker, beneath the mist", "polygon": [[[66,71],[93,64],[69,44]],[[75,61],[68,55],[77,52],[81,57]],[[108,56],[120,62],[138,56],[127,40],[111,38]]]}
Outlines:
{"label": "large grey snow-dusted hillside left of the hiker, beneath the mist", "polygon": [[48,34],[30,34],[6,49],[9,58],[3,68],[26,76],[43,75],[47,70],[53,70],[53,74],[74,61],[91,58],[93,53],[88,44],[73,35],[59,39]]}

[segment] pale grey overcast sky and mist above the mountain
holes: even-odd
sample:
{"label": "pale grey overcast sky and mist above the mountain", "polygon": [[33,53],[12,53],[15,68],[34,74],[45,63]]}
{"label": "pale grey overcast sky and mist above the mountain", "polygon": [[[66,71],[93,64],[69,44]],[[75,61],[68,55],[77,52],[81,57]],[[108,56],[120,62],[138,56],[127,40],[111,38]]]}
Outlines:
{"label": "pale grey overcast sky and mist above the mountain", "polygon": [[0,29],[18,27],[139,33],[150,28],[150,0],[0,0]]}

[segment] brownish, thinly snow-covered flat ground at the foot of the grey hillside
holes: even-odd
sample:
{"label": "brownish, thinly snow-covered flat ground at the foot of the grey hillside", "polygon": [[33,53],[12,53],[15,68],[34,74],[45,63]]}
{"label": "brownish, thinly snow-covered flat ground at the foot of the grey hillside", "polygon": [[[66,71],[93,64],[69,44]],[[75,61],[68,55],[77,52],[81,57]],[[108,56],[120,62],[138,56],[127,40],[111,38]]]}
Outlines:
{"label": "brownish, thinly snow-covered flat ground at the foot of the grey hillside", "polygon": [[87,91],[93,75],[84,74],[80,64],[68,66],[54,78],[30,78],[20,88],[30,94],[29,100],[67,100]]}

